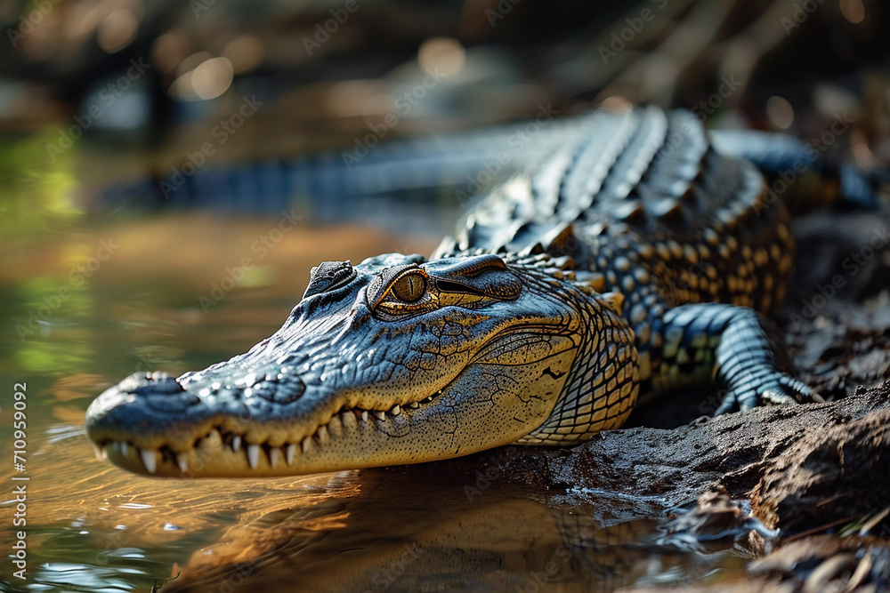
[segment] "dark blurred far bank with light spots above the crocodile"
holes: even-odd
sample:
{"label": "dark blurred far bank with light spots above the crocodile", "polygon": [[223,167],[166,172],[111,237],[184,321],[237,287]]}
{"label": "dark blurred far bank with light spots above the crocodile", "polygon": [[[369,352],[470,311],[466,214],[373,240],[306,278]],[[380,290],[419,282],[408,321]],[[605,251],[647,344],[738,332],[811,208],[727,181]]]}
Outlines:
{"label": "dark blurred far bank with light spots above the crocodile", "polygon": [[[845,112],[854,130],[828,148],[870,168],[890,158],[888,12],[878,0],[4,0],[3,187],[53,191],[25,170],[54,179],[47,199],[89,209],[109,181],[157,186],[197,161],[207,176],[355,150],[368,132],[473,130],[615,98],[806,140]],[[263,210],[251,182],[221,185],[203,201]]]}

